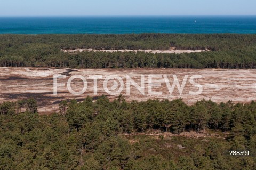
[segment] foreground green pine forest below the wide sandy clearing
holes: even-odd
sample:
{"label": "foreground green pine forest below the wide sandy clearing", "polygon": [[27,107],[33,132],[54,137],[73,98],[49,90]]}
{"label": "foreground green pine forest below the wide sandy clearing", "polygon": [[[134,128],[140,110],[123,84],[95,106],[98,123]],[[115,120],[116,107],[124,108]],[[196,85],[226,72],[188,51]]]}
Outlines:
{"label": "foreground green pine forest below the wide sandy clearing", "polygon": [[[40,115],[34,99],[1,104],[0,169],[256,169],[254,101],[188,106],[119,95],[59,106],[59,113]],[[155,131],[160,135],[147,135]],[[178,136],[191,131],[205,137]]]}

